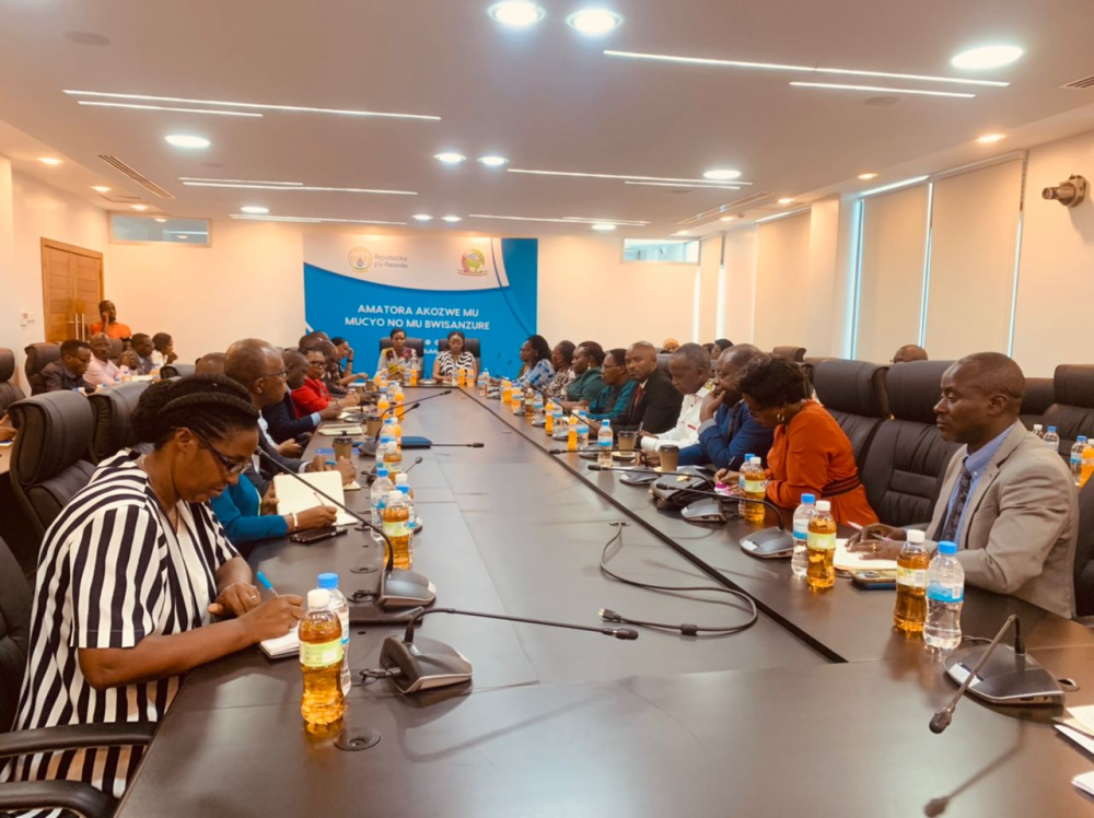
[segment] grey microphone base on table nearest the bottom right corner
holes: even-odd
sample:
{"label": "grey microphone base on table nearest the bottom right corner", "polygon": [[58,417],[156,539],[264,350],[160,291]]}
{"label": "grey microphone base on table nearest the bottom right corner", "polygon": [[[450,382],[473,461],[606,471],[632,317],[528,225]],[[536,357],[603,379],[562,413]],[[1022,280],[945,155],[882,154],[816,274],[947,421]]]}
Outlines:
{"label": "grey microphone base on table nearest the bottom right corner", "polygon": [[[946,656],[946,675],[961,685],[976,667],[988,646],[970,647]],[[999,645],[968,686],[968,693],[989,704],[1061,706],[1063,689],[1052,675],[1029,654],[1017,654],[1010,645]]]}

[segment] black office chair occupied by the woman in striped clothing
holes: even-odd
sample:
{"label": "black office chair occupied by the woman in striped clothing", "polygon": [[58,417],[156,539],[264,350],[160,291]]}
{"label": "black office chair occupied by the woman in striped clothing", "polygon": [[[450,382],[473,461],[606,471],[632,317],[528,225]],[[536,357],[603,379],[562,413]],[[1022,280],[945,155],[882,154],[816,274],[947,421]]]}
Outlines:
{"label": "black office chair occupied by the woman in striped clothing", "polygon": [[[35,752],[108,746],[147,746],[152,722],[75,724],[9,732],[19,706],[31,635],[31,588],[19,563],[0,539],[0,759]],[[16,781],[0,784],[0,809],[69,809],[86,818],[108,818],[117,801],[75,781]]]}

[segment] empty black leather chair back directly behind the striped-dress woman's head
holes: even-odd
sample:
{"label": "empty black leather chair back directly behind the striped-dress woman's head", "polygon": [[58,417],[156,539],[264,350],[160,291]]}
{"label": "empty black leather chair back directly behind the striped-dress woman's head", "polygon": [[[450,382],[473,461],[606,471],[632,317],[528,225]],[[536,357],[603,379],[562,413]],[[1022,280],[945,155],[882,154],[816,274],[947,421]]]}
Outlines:
{"label": "empty black leather chair back directly behind the striped-dress woman's head", "polygon": [[12,404],[9,412],[19,430],[11,453],[12,490],[40,541],[95,470],[85,459],[95,417],[88,398],[72,392],[34,395]]}

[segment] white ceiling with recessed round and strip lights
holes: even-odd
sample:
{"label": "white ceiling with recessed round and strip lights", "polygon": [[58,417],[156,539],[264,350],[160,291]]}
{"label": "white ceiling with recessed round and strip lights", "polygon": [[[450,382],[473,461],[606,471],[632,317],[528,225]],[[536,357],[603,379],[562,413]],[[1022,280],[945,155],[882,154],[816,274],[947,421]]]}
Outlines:
{"label": "white ceiling with recessed round and strip lights", "polygon": [[[489,0],[0,0],[0,152],[16,167],[107,206],[91,184],[140,196],[165,213],[223,218],[244,204],[271,214],[405,221],[465,217],[461,230],[584,233],[585,226],[505,222],[470,213],[649,221],[616,235],[667,235],[677,222],[737,197],[771,191],[752,218],[799,201],[942,170],[1038,139],[1094,127],[1094,90],[1062,83],[1094,73],[1094,10],[1085,0],[602,0],[625,22],[590,39],[565,23],[577,0],[539,0],[546,17],[513,32]],[[109,39],[88,46],[65,35]],[[950,58],[990,42],[1026,49],[1013,66],[976,74]],[[1010,81],[1009,87],[818,77],[609,58],[605,48],[719,59],[836,66]],[[976,98],[792,87],[851,82],[969,91]],[[440,121],[264,110],[263,118],[92,108],[65,89],[278,105],[426,114]],[[154,103],[153,103],[154,104]],[[170,105],[171,103],[162,103]],[[1069,114],[1070,112],[1070,114]],[[1062,115],[1062,116],[1061,116]],[[1049,120],[1055,129],[1029,128]],[[1023,131],[1022,127],[1027,126]],[[18,130],[16,130],[18,129]],[[1012,137],[977,145],[982,133]],[[167,133],[212,140],[171,148]],[[30,137],[31,139],[27,139]],[[66,164],[35,161],[38,144]],[[432,159],[466,154],[458,167]],[[156,199],[97,156],[113,154],[174,194]],[[733,167],[741,191],[640,187],[621,180],[531,176],[510,168],[698,178]],[[917,164],[918,163],[918,164]],[[865,171],[882,175],[861,183]],[[179,176],[295,180],[409,190],[418,196],[185,187]],[[124,204],[114,206],[125,208]],[[736,212],[736,209],[734,210]],[[719,226],[713,219],[703,229]],[[724,226],[724,225],[722,225]]]}

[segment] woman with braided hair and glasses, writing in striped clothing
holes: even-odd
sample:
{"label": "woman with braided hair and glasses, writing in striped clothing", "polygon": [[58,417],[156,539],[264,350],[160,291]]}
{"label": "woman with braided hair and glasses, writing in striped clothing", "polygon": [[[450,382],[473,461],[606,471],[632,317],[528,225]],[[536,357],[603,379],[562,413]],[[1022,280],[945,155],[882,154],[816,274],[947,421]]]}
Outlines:
{"label": "woman with braided hair and glasses, writing in striped clothing", "polygon": [[[187,670],[295,626],[301,598],[263,603],[206,504],[240,479],[257,423],[247,390],[223,375],[141,395],[132,424],[151,453],[103,461],[46,531],[15,729],[159,721]],[[3,778],[120,796],[140,758],[129,747],[39,753]]]}

